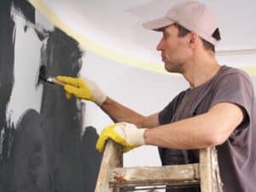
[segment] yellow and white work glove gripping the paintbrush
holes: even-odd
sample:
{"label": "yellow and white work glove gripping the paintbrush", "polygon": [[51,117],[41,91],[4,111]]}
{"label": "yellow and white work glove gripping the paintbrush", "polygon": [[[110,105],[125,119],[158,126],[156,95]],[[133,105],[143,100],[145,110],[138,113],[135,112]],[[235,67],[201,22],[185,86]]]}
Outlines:
{"label": "yellow and white work glove gripping the paintbrush", "polygon": [[79,99],[96,102],[99,106],[101,106],[107,98],[97,84],[89,79],[65,76],[57,76],[55,79],[65,84],[64,90],[67,92],[67,97],[70,97],[70,95],[76,96]]}

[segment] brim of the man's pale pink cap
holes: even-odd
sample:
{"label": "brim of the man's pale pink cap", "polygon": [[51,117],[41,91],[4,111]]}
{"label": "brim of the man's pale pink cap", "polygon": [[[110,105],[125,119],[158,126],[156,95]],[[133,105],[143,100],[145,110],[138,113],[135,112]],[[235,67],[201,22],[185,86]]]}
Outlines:
{"label": "brim of the man's pale pink cap", "polygon": [[174,23],[173,20],[170,20],[166,17],[161,17],[156,20],[150,20],[148,22],[143,23],[143,27],[145,29],[154,30],[154,31],[161,31],[163,27],[170,26]]}

